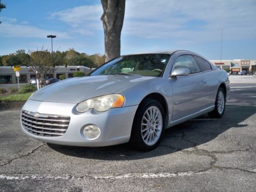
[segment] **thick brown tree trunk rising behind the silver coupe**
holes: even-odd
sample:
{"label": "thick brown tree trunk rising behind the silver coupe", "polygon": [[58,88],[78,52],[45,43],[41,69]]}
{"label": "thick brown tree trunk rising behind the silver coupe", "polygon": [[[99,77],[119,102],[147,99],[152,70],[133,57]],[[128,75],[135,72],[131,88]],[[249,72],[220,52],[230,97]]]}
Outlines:
{"label": "thick brown tree trunk rising behind the silver coupe", "polygon": [[120,56],[125,0],[101,0],[104,29],[105,61]]}

